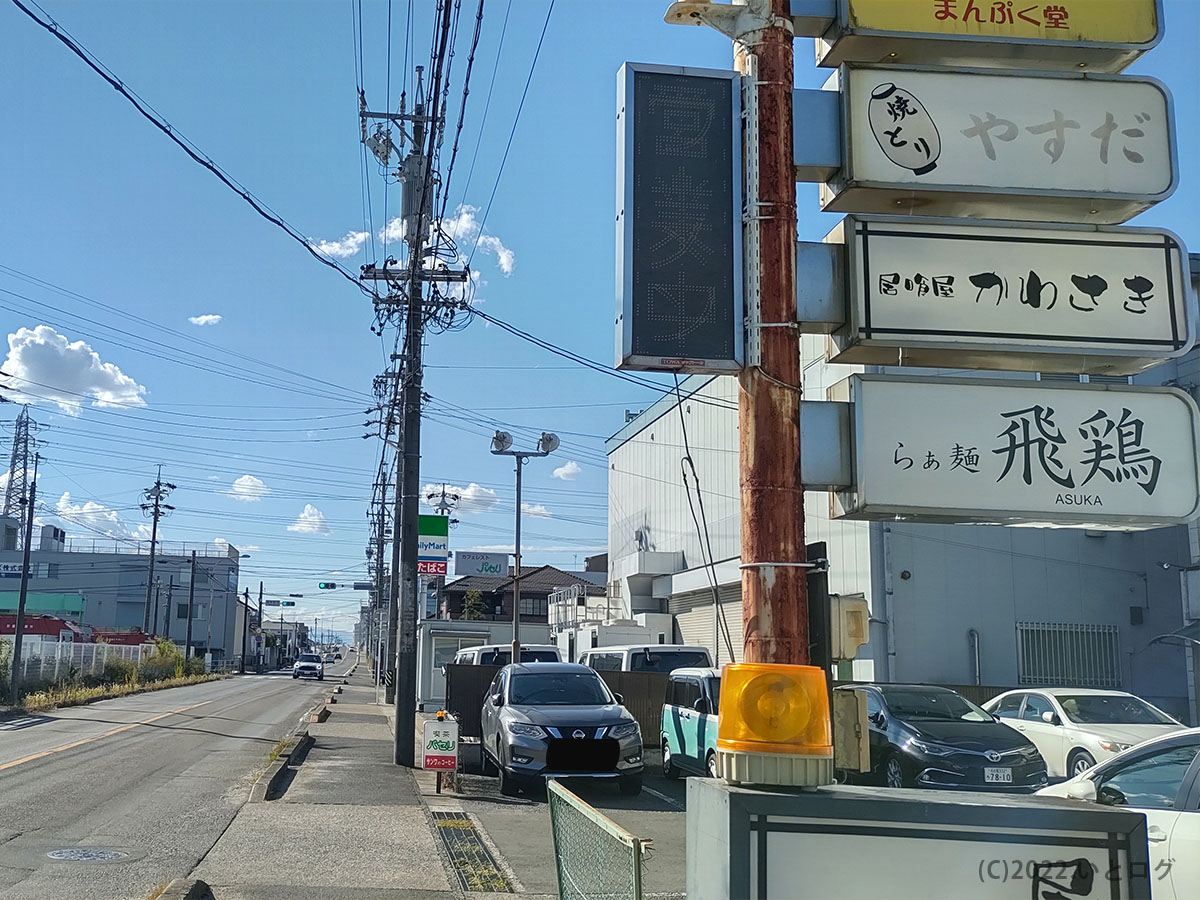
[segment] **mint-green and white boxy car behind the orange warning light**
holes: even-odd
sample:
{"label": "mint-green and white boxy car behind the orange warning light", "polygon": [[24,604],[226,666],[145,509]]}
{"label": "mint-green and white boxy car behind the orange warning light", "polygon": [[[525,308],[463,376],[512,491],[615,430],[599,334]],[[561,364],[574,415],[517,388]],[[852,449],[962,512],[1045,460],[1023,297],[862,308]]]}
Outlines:
{"label": "mint-green and white boxy car behind the orange warning light", "polygon": [[719,668],[674,670],[662,703],[662,774],[716,778],[716,710],[721,701]]}

